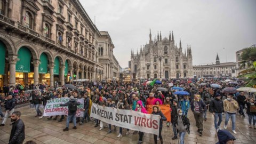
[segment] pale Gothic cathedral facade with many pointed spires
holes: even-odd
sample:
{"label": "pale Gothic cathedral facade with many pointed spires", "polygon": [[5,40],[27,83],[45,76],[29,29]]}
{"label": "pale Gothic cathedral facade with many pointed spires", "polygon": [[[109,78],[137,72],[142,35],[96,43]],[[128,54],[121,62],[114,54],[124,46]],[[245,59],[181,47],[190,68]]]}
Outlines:
{"label": "pale Gothic cathedral facade with many pointed spires", "polygon": [[190,45],[182,52],[175,45],[173,33],[162,39],[161,32],[152,39],[149,33],[149,44],[140,47],[140,52],[131,52],[131,73],[133,78],[188,78],[193,77],[193,63]]}

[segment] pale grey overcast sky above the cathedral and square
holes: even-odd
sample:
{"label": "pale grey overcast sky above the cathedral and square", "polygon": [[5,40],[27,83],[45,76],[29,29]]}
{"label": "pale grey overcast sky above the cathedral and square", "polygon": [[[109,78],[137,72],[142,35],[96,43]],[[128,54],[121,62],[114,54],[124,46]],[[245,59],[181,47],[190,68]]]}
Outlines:
{"label": "pale grey overcast sky above the cathedral and square", "polygon": [[[128,67],[131,49],[149,41],[149,28],[162,38],[173,31],[183,51],[191,45],[193,65],[235,61],[235,52],[256,44],[255,0],[80,0],[100,31],[108,31],[114,55]],[[225,49],[223,49],[225,47]]]}

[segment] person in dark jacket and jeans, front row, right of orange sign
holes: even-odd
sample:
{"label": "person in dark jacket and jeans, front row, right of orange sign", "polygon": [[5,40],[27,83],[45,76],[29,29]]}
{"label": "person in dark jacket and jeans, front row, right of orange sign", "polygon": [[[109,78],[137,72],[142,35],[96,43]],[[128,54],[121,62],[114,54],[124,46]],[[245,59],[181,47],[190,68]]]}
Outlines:
{"label": "person in dark jacket and jeans, front row, right of orange sign", "polygon": [[181,109],[178,108],[177,113],[178,117],[175,117],[174,121],[177,127],[177,131],[180,135],[180,144],[184,144],[184,137],[186,132],[188,132],[188,134],[190,133],[190,123],[189,119],[186,115],[183,114],[183,111]]}

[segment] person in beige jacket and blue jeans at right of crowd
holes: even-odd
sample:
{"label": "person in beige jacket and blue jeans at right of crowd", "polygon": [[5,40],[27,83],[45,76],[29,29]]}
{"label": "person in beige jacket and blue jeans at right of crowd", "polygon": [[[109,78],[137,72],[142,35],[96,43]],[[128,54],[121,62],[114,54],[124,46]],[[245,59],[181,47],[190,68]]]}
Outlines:
{"label": "person in beige jacket and blue jeans at right of crowd", "polygon": [[223,101],[223,107],[226,115],[224,129],[227,129],[227,124],[231,117],[232,132],[236,134],[236,109],[238,109],[239,106],[237,101],[233,99],[233,95],[228,95],[228,98]]}

